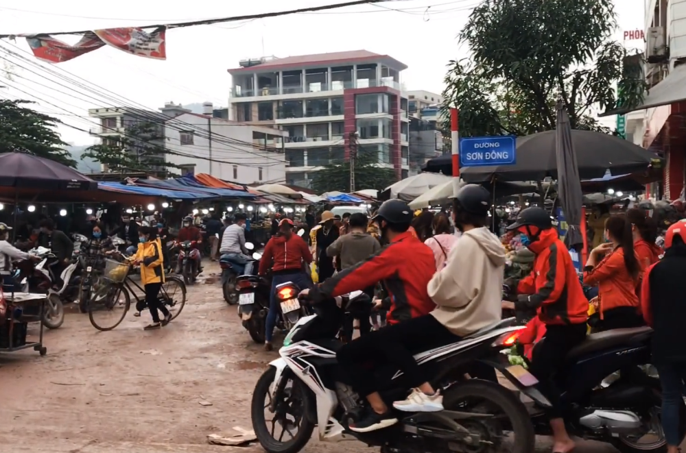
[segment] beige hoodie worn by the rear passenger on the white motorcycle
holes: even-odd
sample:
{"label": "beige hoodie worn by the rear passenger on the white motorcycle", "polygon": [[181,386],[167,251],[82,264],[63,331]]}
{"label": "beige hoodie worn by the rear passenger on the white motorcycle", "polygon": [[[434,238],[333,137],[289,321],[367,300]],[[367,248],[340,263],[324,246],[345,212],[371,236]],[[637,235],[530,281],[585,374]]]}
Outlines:
{"label": "beige hoodie worn by the rear passenger on the white motorcycle", "polygon": [[427,290],[431,312],[453,334],[465,336],[501,319],[505,248],[488,228],[462,234]]}

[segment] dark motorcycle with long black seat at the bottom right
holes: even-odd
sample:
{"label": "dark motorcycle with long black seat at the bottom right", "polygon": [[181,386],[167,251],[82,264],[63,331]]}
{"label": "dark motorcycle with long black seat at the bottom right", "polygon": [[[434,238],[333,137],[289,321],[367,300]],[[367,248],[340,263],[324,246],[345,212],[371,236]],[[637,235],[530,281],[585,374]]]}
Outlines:
{"label": "dark motorcycle with long black seat at the bottom right", "polygon": [[[569,434],[610,443],[622,453],[665,450],[660,382],[640,368],[650,364],[651,337],[649,327],[606,330],[588,335],[567,354],[567,364],[556,376],[563,390],[562,404],[569,408],[565,413]],[[620,369],[617,380],[602,384]],[[686,437],[686,403],[680,412],[681,442]],[[532,421],[536,434],[549,435],[543,413],[532,415]],[[646,434],[657,440],[640,443]]]}

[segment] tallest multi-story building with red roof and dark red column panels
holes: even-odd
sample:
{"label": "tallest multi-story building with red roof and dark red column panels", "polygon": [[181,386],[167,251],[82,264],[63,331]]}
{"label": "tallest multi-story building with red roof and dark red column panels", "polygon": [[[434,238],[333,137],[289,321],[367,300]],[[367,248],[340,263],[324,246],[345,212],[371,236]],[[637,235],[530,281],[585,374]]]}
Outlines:
{"label": "tallest multi-story building with red roof and dark red column panels", "polygon": [[[229,118],[287,132],[286,180],[307,186],[314,172],[344,162],[351,133],[378,164],[407,175],[405,64],[369,51],[259,58],[229,69]],[[278,142],[272,143],[279,146]]]}

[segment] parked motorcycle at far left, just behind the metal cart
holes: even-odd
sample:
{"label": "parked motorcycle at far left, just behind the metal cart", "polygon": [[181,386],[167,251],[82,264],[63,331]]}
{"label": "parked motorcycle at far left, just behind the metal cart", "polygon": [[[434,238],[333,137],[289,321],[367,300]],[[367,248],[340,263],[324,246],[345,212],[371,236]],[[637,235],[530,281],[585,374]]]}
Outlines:
{"label": "parked motorcycle at far left, just behind the metal cart", "polygon": [[[54,280],[51,272],[47,269],[49,260],[56,259],[50,249],[37,247],[29,251],[29,254],[42,258],[38,265],[33,260],[23,260],[16,265],[14,280],[19,282],[19,288],[23,293],[45,294],[45,313],[43,326],[49,329],[57,329],[64,323],[64,304],[62,299],[53,289]],[[65,269],[66,270],[66,269]],[[38,313],[32,313],[38,315]]]}

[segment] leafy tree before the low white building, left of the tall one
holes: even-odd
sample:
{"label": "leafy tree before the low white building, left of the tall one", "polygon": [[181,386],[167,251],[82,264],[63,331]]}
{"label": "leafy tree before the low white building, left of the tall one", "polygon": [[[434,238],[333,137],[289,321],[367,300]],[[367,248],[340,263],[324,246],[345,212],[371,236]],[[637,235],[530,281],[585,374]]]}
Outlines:
{"label": "leafy tree before the low white building, left of the tall one", "polygon": [[170,174],[168,168],[178,168],[178,165],[165,162],[166,149],[162,143],[158,126],[139,123],[127,127],[126,136],[88,147],[83,156],[106,165],[110,173],[145,171],[165,176]]}

